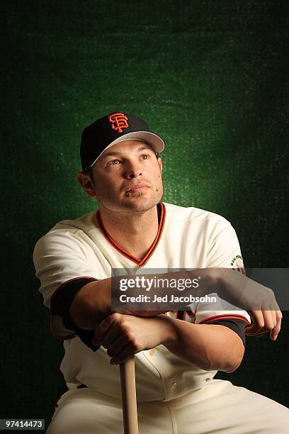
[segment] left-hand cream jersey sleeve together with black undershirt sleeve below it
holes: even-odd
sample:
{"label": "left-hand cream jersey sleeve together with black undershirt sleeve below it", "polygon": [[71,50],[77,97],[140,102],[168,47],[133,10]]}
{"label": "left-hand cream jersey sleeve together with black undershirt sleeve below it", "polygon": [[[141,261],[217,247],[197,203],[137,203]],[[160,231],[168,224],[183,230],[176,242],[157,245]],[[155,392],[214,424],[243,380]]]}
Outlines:
{"label": "left-hand cream jersey sleeve together with black undershirt sleeve below it", "polygon": [[[98,280],[98,263],[91,247],[77,232],[52,230],[35,245],[35,276],[40,279],[43,303],[50,308],[50,328],[62,340],[79,335],[87,340],[69,315],[72,300],[84,284]],[[80,334],[79,334],[80,333]]]}

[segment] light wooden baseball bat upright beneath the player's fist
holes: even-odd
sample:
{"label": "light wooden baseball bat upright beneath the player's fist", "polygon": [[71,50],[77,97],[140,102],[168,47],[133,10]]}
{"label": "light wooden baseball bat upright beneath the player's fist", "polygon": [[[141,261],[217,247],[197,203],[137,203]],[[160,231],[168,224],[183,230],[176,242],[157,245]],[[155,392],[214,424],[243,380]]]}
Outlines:
{"label": "light wooden baseball bat upright beneath the player's fist", "polygon": [[135,356],[120,363],[121,396],[123,398],[123,427],[125,434],[138,434],[137,394],[135,390]]}

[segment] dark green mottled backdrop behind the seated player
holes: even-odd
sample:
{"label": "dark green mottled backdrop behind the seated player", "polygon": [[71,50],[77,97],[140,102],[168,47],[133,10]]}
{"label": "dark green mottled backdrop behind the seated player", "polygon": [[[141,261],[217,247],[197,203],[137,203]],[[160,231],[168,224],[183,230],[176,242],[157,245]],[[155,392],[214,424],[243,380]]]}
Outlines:
{"label": "dark green mottled backdrop behind the seated player", "polygon": [[[287,267],[288,1],[4,1],[1,418],[50,418],[65,385],[35,241],[95,206],[81,130],[115,110],[166,140],[164,201],[225,216],[246,266]],[[219,374],[289,406],[288,314]]]}

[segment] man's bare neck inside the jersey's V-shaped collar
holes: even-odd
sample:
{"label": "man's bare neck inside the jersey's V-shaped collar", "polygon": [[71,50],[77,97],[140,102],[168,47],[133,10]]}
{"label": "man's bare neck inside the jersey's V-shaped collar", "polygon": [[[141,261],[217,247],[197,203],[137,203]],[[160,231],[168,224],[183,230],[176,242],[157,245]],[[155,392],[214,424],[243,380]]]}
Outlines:
{"label": "man's bare neck inside the jersey's V-shaped collar", "polygon": [[115,213],[100,207],[103,226],[115,243],[142,259],[157,236],[157,206],[140,213]]}

